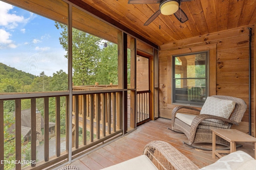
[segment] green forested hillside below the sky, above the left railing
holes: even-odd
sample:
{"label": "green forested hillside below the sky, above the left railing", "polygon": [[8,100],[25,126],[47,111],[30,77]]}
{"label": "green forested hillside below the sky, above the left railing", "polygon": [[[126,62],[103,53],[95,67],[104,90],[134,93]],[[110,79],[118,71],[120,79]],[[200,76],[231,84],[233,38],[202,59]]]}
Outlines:
{"label": "green forested hillside below the sky, above the left railing", "polygon": [[[57,83],[58,82],[58,83]],[[44,92],[68,89],[68,74],[63,70],[46,76],[26,73],[0,63],[0,93],[10,92]]]}

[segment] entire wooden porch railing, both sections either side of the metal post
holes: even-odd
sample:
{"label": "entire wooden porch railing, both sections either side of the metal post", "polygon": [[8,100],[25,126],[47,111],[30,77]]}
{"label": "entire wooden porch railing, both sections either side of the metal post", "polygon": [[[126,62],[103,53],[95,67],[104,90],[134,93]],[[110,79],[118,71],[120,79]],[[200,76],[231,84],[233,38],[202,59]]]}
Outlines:
{"label": "entire wooden porch railing, both sections either side of the metal post", "polygon": [[[31,145],[31,161],[32,164],[23,167],[23,164],[15,164],[16,170],[20,169],[43,169],[54,168],[68,162],[68,146],[72,142],[72,159],[89,152],[104,143],[120,137],[123,132],[122,127],[122,90],[111,89],[108,92],[88,92],[80,90],[73,93],[72,102],[72,134],[69,134],[69,92],[48,92],[48,93],[34,93],[34,94],[17,94],[11,98],[0,98],[0,160],[6,160],[4,157],[4,102],[13,100],[15,102],[15,133],[14,139],[8,142],[15,143],[15,160],[11,161],[24,161],[23,147],[22,146],[22,100],[30,100],[31,104],[31,133],[27,145]],[[60,101],[64,101],[64,104]],[[38,104],[43,105],[43,114],[38,113]],[[54,109],[52,109],[54,108]],[[63,113],[63,108],[64,112]],[[55,113],[51,111],[54,110]],[[61,111],[62,110],[62,111]],[[55,129],[50,129],[52,123],[49,117],[54,114]],[[64,115],[63,115],[64,114]],[[38,116],[43,115],[43,130],[42,133],[37,129]],[[40,119],[41,120],[41,119]],[[25,120],[26,121],[26,120]],[[28,121],[28,120],[27,120]],[[65,123],[65,130],[61,130],[61,123]],[[55,137],[50,139],[48,131],[54,131]],[[67,132],[63,135],[63,131]],[[72,137],[71,137],[72,136]],[[42,139],[38,141],[38,137]],[[54,139],[55,138],[55,139]],[[64,138],[64,139],[63,139]],[[41,145],[41,151],[37,151]],[[65,145],[65,149],[61,148]],[[54,147],[52,147],[54,146]],[[52,150],[55,154],[52,155]],[[38,155],[43,155],[43,159],[38,161]],[[10,155],[11,156],[11,155]],[[7,162],[8,163],[8,162]],[[8,169],[5,164],[0,164],[0,169]]]}

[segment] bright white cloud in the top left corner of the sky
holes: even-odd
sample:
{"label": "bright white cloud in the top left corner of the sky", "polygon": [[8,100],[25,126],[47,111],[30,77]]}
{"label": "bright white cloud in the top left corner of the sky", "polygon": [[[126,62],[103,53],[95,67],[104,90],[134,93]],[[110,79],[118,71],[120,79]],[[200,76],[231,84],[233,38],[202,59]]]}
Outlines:
{"label": "bright white cloud in the top left corner of the sky", "polygon": [[23,16],[17,16],[16,14],[10,14],[14,6],[0,1],[0,26],[4,26],[9,29],[14,29],[18,26],[18,23],[27,22]]}

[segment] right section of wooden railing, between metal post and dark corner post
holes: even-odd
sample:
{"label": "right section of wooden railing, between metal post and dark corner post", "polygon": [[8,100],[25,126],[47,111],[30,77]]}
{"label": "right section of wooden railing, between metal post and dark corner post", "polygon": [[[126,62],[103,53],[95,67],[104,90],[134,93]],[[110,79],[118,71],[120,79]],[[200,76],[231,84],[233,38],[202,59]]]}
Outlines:
{"label": "right section of wooden railing, between metal post and dark corner post", "polygon": [[79,152],[122,134],[122,92],[74,95],[73,98],[72,147],[76,150],[72,154],[78,156]]}

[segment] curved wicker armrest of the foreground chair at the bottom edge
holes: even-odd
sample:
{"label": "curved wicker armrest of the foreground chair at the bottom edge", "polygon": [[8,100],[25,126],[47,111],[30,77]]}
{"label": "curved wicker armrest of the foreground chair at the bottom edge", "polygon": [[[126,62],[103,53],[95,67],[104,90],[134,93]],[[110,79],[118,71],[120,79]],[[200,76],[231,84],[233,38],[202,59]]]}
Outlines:
{"label": "curved wicker armrest of the foreground chair at the bottom edge", "polygon": [[148,156],[153,164],[160,170],[198,170],[191,160],[180,151],[164,141],[152,141],[148,143],[142,154]]}

